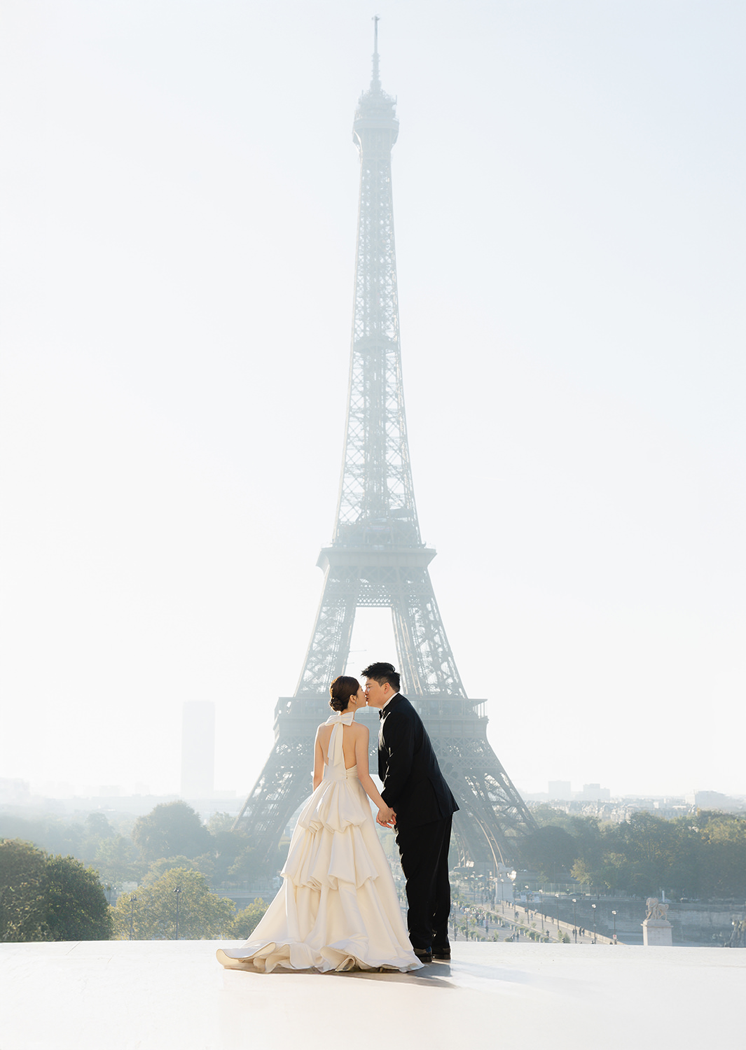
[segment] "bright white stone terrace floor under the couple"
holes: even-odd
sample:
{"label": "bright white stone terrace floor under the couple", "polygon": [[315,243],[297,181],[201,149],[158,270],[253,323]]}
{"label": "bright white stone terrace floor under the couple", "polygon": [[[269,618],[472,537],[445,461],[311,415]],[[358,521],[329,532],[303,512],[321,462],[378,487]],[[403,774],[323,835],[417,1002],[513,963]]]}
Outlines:
{"label": "bright white stone terrace floor under the couple", "polygon": [[746,950],[459,943],[411,974],[265,974],[224,970],[217,943],[0,945],[0,1050],[745,1043]]}

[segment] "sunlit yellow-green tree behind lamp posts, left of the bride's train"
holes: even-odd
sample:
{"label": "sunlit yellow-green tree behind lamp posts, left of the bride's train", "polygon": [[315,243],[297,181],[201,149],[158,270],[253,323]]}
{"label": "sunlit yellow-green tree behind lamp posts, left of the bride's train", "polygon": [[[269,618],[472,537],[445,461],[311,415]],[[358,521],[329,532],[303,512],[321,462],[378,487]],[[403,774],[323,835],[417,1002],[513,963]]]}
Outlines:
{"label": "sunlit yellow-green tree behind lamp posts, left of the bride's train", "polygon": [[[179,894],[175,890],[181,890]],[[211,894],[207,879],[190,868],[171,868],[151,886],[122,894],[112,908],[115,938],[126,941],[130,918],[136,941],[204,941],[233,934],[235,911],[231,901]]]}

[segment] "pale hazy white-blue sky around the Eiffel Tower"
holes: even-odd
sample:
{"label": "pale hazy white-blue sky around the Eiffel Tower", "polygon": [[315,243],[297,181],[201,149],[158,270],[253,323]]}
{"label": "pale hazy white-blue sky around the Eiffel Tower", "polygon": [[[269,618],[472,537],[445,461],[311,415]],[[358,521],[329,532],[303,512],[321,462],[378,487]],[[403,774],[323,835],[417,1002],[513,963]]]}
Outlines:
{"label": "pale hazy white-blue sky around the Eiffel Tower", "polygon": [[175,791],[185,699],[217,786],[270,752],[376,13],[419,518],[490,739],[524,791],[746,793],[741,0],[4,0],[0,776]]}

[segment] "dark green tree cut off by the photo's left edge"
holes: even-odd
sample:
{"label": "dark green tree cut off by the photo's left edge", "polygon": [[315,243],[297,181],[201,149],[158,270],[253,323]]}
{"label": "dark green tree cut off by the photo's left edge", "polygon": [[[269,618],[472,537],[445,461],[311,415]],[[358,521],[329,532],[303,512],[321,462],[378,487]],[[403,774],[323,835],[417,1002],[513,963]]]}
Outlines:
{"label": "dark green tree cut off by the photo's left edge", "polygon": [[30,842],[0,841],[0,941],[50,941],[46,855]]}

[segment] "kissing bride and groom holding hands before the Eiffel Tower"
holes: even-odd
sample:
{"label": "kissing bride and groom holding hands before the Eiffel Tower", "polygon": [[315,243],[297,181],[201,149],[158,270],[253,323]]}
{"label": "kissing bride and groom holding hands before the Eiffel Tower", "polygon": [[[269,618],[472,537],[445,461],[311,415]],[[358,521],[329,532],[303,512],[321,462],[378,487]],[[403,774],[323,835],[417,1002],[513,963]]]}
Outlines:
{"label": "kissing bride and groom holding hands before the Eiffel Tower", "polygon": [[[448,854],[458,805],[391,664],[365,668],[362,688],[340,675],[332,715],[314,742],[313,793],[281,872],[283,885],[248,941],[217,951],[229,969],[418,969],[448,961]],[[376,708],[378,792],[368,769],[369,731],[356,711]],[[377,822],[393,827],[407,882],[407,928]]]}

